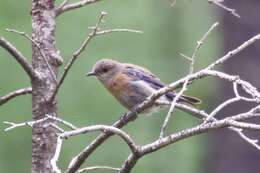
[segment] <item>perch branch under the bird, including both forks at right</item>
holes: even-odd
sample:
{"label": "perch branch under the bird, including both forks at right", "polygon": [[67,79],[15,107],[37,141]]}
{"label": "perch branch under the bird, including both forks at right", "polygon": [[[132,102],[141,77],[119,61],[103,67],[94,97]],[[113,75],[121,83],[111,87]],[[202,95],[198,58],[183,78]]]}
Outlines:
{"label": "perch branch under the bird, including both forks at right", "polygon": [[[210,71],[209,70],[209,69],[214,68],[216,65],[225,62],[227,59],[230,59],[235,54],[239,53],[240,51],[242,51],[243,49],[245,49],[249,45],[251,45],[254,42],[256,42],[258,39],[260,39],[260,34],[254,36],[251,39],[249,39],[248,41],[244,42],[241,46],[237,47],[236,49],[232,50],[228,54],[224,55],[219,60],[217,60],[216,62],[212,63],[211,65],[209,65],[205,69],[200,70],[200,71],[198,71],[198,72],[196,72],[196,73],[194,73],[192,75],[189,75],[189,77],[188,77],[189,81],[190,81],[189,84],[192,81],[201,79],[201,78],[206,77],[206,76],[215,76],[215,77],[219,77],[220,79],[225,79],[225,80],[230,81],[230,82],[235,82],[236,81],[236,82],[238,82],[239,85],[242,86],[242,88],[245,89],[246,92],[249,92],[252,96],[255,96],[253,98],[256,98],[256,99],[260,98],[259,97],[259,92],[250,83],[248,83],[246,81],[243,81],[241,79],[238,80],[237,76],[232,76],[232,75],[228,75],[228,74],[225,74],[225,73],[216,72],[216,71]],[[159,89],[156,93],[154,93],[149,98],[147,98],[147,100],[145,100],[143,103],[138,105],[136,107],[135,112],[128,112],[125,116],[123,116],[117,122],[115,122],[113,126],[117,127],[117,128],[121,128],[121,127],[125,126],[128,122],[130,122],[131,120],[134,120],[136,118],[136,113],[142,112],[146,108],[148,108],[151,105],[153,105],[153,103],[159,97],[163,96],[165,93],[170,92],[170,91],[178,88],[179,86],[182,86],[185,83],[186,80],[187,80],[187,77],[184,77],[184,78],[182,78],[182,79],[180,79],[180,80],[178,80],[176,82],[173,82],[173,83],[167,85],[164,88]],[[183,106],[182,108],[187,110],[187,112],[189,112],[189,113],[193,112],[193,110],[195,109],[195,108],[187,109],[187,106]],[[201,115],[201,116],[205,117],[203,111],[195,111],[193,115],[195,115],[195,116]],[[67,170],[65,172],[66,173],[74,173],[75,171],[77,171],[79,169],[79,167],[83,164],[83,162],[90,156],[90,154],[92,152],[94,152],[96,150],[96,148],[98,146],[100,146],[104,141],[106,141],[110,136],[112,136],[112,134],[101,134],[101,135],[99,135],[88,146],[86,146],[83,149],[82,152],[80,152],[77,156],[75,156],[71,160],[71,162],[70,162],[70,164],[69,164],[69,166],[68,166],[68,168],[67,168]]]}

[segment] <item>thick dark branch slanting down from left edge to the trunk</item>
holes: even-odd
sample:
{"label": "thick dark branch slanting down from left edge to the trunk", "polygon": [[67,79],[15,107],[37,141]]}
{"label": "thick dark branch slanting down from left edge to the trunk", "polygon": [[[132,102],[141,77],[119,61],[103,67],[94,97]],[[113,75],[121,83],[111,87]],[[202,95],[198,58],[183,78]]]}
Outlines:
{"label": "thick dark branch slanting down from left edge to the trunk", "polygon": [[23,67],[25,72],[31,79],[39,78],[39,75],[33,69],[32,65],[27,61],[23,54],[17,50],[10,42],[0,37],[0,46],[2,46],[7,52],[9,52],[13,58]]}

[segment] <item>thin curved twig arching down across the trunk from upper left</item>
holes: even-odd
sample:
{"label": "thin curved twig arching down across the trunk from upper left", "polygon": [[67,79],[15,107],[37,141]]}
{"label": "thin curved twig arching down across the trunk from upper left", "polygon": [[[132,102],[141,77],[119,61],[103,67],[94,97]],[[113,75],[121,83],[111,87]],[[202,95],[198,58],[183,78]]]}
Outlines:
{"label": "thin curved twig arching down across the trunk from upper left", "polygon": [[12,33],[15,33],[15,34],[18,34],[18,35],[21,35],[22,37],[24,37],[24,38],[26,38],[27,40],[29,40],[32,44],[34,44],[34,45],[38,48],[38,50],[39,50],[39,52],[40,52],[40,54],[41,54],[42,59],[44,60],[45,64],[47,65],[47,68],[48,68],[48,70],[49,70],[50,73],[51,73],[52,79],[53,79],[55,82],[57,82],[57,80],[56,80],[56,75],[54,74],[54,72],[53,72],[53,70],[52,70],[52,68],[51,68],[51,66],[50,66],[50,64],[49,64],[49,62],[48,62],[48,60],[47,60],[47,56],[46,56],[45,53],[42,51],[42,49],[41,49],[41,47],[38,45],[38,43],[37,43],[36,41],[34,41],[34,40],[33,40],[28,34],[26,34],[25,32],[21,32],[21,31],[17,31],[17,30],[14,30],[14,29],[9,29],[9,28],[7,28],[6,31],[12,32]]}

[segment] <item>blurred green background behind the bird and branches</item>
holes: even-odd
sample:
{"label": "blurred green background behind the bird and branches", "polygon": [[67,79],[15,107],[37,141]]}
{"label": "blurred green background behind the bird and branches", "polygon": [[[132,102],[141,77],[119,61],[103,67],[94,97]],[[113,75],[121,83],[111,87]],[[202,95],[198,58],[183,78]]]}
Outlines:
{"label": "blurred green background behind the bird and branches", "polygon": [[[57,1],[57,4],[61,0]],[[31,46],[20,36],[4,31],[13,28],[31,33],[29,0],[0,2],[0,35],[14,43],[31,58]],[[89,30],[95,25],[101,11],[108,16],[103,24],[106,28],[131,28],[143,34],[114,33],[95,38],[81,55],[69,73],[59,93],[59,115],[81,127],[94,124],[112,124],[126,112],[94,78],[85,73],[101,58],[113,58],[122,62],[139,64],[170,83],[188,72],[188,62],[179,53],[191,55],[196,41],[217,21],[214,8],[206,1],[157,0],[107,0],[68,12],[57,19],[57,47],[66,63],[80,46]],[[217,29],[212,33],[198,54],[196,69],[206,66],[219,52]],[[0,49],[0,95],[27,87],[30,81],[10,55]],[[62,69],[62,68],[61,68]],[[192,85],[188,94],[201,98],[207,108],[216,93],[213,80]],[[207,88],[203,88],[207,86]],[[207,104],[205,104],[207,103]],[[124,128],[138,144],[155,140],[167,111],[154,116],[141,116]],[[180,111],[175,112],[167,133],[191,127],[198,121]],[[3,121],[23,122],[32,117],[30,96],[19,97],[0,107],[0,172],[30,172],[31,129],[22,127],[4,132]],[[70,159],[79,153],[98,133],[86,134],[65,141],[59,166],[63,169]],[[141,159],[134,173],[184,172],[199,173],[207,159],[207,136],[197,136],[178,142]],[[90,157],[84,166],[110,165],[119,167],[130,153],[117,137],[112,137]],[[170,170],[170,171],[169,171]]]}

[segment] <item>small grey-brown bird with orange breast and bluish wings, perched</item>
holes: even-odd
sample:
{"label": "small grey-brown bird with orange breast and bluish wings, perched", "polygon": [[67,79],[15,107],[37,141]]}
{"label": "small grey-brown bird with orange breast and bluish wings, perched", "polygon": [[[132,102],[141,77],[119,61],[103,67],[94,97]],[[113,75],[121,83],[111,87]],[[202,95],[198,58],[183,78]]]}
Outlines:
{"label": "small grey-brown bird with orange breast and bluish wings, perched", "polygon": [[[165,86],[158,77],[149,70],[128,63],[120,63],[111,59],[99,60],[87,76],[96,76],[108,91],[127,109],[133,110],[155,91]],[[168,92],[160,97],[162,101],[172,101],[175,92]],[[180,102],[191,105],[199,104],[200,100],[182,95]],[[154,109],[156,108],[156,109]],[[154,112],[158,107],[151,107],[144,112]]]}

